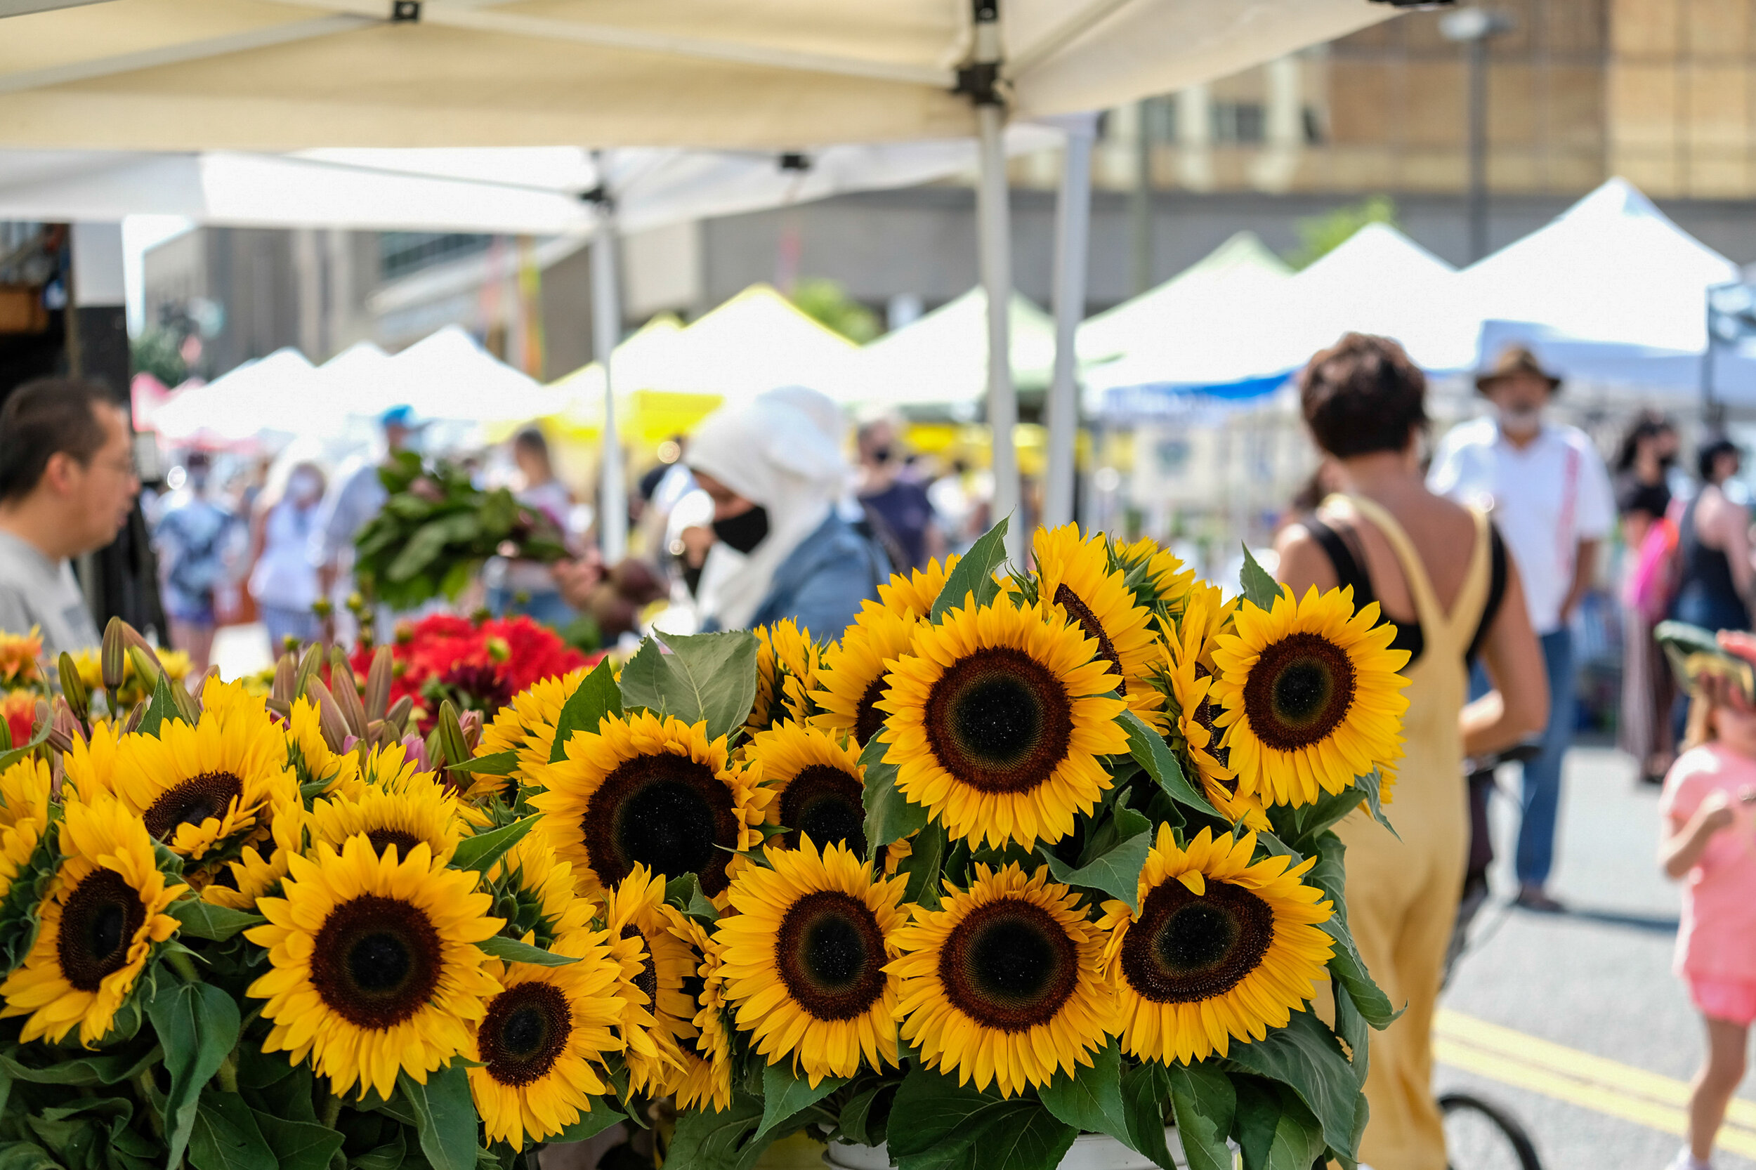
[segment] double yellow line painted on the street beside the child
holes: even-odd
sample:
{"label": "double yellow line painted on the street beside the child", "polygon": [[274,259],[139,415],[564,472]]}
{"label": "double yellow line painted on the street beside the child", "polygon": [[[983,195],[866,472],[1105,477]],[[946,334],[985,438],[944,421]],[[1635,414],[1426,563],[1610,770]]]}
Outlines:
{"label": "double yellow line painted on the street beside the child", "polygon": [[[1649,1073],[1630,1065],[1619,1065],[1617,1061],[1593,1058],[1558,1044],[1533,1040],[1508,1028],[1482,1024],[1482,1021],[1473,1021],[1466,1015],[1459,1017],[1456,1012],[1447,1012],[1445,1015],[1450,1017],[1445,1021],[1447,1026],[1443,1029],[1436,1028],[1433,1038],[1433,1056],[1443,1065],[1498,1080],[1500,1084],[1542,1093],[1570,1105],[1580,1105],[1608,1117],[1621,1117],[1623,1121],[1659,1130],[1661,1133],[1682,1135],[1688,1128],[1688,1116],[1677,1105],[1688,1101],[1689,1087],[1680,1080],[1659,1077],[1658,1073]],[[1493,1029],[1473,1035],[1489,1035],[1496,1042],[1496,1047],[1479,1047],[1459,1036],[1459,1019],[1465,1021],[1461,1031],[1472,1031],[1470,1024],[1482,1024]],[[1508,1036],[1519,1036],[1524,1051],[1508,1051],[1512,1047],[1507,1044]],[[1524,1059],[1538,1052],[1535,1045],[1540,1045],[1542,1059]],[[1556,1068],[1558,1065],[1566,1065],[1568,1056],[1584,1059],[1573,1061],[1572,1068]],[[1623,1084],[1616,1080],[1605,1082],[1601,1077],[1607,1066],[1637,1075]],[[1593,1075],[1580,1075],[1579,1070],[1582,1068],[1589,1068]],[[1630,1091],[1633,1086],[1652,1091],[1652,1094],[1663,1093],[1665,1100],[1651,1100],[1651,1094]],[[1756,1133],[1738,1128],[1738,1121],[1728,1114],[1717,1144],[1733,1154],[1756,1158]]]}

